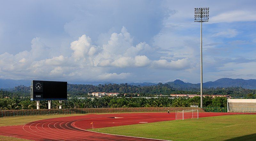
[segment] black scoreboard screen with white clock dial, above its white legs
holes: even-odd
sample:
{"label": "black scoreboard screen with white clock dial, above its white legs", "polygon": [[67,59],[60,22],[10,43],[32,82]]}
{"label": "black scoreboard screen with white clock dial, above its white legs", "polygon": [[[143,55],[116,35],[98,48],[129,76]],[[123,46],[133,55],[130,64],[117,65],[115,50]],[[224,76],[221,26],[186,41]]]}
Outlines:
{"label": "black scoreboard screen with white clock dial, above its white legs", "polygon": [[68,82],[31,81],[30,100],[67,100]]}

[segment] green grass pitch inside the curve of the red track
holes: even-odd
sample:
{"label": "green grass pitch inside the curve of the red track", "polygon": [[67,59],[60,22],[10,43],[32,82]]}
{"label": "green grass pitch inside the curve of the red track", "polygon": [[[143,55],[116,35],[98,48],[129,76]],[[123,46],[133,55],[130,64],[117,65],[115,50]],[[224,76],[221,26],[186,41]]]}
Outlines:
{"label": "green grass pitch inside the curve of the red track", "polygon": [[256,140],[256,115],[228,115],[94,129],[166,140]]}

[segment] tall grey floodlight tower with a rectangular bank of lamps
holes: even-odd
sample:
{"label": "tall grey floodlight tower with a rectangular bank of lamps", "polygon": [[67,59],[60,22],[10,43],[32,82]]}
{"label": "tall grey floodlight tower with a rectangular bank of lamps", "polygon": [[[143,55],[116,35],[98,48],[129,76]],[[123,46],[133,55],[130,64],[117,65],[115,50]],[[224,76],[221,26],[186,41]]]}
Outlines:
{"label": "tall grey floodlight tower with a rectangular bank of lamps", "polygon": [[201,23],[201,108],[203,108],[203,57],[202,57],[202,23],[209,20],[209,8],[195,8],[195,22]]}

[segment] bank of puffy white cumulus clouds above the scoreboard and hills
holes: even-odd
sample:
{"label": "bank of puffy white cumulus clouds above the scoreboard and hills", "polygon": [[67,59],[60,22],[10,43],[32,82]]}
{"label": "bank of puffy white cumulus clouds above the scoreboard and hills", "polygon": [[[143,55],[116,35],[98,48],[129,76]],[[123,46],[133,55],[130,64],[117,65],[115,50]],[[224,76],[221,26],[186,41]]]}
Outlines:
{"label": "bank of puffy white cumulus clouds above the scoreboard and hills", "polygon": [[[126,28],[112,33],[108,44],[97,46],[85,34],[70,43],[70,56],[64,56],[47,47],[40,38],[31,41],[31,50],[15,55],[0,55],[1,78],[47,79],[71,81],[113,81],[125,80],[132,73],[126,68],[186,70],[191,68],[187,58],[163,60],[148,56],[156,48],[146,42],[133,46],[133,38]],[[55,56],[56,54],[59,54]],[[122,72],[116,72],[120,68]]]}

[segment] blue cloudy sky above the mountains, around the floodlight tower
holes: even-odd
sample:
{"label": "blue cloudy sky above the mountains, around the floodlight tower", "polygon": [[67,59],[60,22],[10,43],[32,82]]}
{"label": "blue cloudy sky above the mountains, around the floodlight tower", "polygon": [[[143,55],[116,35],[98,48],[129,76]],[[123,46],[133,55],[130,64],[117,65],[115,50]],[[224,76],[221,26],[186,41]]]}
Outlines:
{"label": "blue cloudy sky above the mountains, around the floodlight tower", "polygon": [[0,78],[92,82],[256,79],[254,0],[1,1]]}

